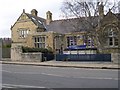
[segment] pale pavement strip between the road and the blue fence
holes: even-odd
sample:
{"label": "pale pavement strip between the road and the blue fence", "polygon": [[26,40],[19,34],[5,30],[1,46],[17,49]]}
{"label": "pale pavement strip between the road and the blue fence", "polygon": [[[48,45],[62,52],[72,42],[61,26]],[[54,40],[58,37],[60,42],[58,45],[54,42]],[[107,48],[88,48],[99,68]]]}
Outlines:
{"label": "pale pavement strip between the road and the blue fence", "polygon": [[73,67],[73,68],[92,68],[92,69],[120,69],[118,64],[112,62],[73,62],[73,61],[44,61],[44,62],[20,62],[11,60],[2,60],[2,64],[15,65],[35,65],[35,66],[51,66],[51,67]]}

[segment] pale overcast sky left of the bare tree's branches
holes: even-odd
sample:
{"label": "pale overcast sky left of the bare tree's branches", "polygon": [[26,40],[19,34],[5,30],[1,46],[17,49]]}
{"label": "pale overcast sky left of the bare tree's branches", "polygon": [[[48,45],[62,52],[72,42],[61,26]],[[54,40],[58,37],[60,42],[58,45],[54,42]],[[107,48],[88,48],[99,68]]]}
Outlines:
{"label": "pale overcast sky left of the bare tree's branches", "polygon": [[49,10],[53,14],[53,20],[62,18],[62,0],[0,0],[0,38],[10,38],[10,27],[19,18],[23,9],[30,13],[32,9],[38,11],[38,16],[46,18]]}

